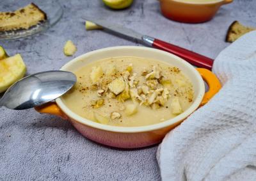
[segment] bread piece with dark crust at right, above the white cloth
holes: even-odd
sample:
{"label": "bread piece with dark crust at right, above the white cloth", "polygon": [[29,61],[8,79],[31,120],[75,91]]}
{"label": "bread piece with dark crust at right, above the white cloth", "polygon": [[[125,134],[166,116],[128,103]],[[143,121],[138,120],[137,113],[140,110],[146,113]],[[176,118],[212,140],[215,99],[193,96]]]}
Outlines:
{"label": "bread piece with dark crust at right, above the white cloth", "polygon": [[243,26],[243,24],[235,20],[234,22],[232,22],[232,24],[230,24],[228,28],[227,35],[226,35],[226,42],[234,42],[240,36],[253,30],[256,30],[256,29],[248,26]]}

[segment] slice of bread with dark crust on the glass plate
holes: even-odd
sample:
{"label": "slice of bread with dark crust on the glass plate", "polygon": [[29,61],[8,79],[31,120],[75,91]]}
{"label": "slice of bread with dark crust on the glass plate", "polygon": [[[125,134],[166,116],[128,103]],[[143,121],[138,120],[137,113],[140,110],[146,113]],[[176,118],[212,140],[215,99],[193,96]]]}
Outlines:
{"label": "slice of bread with dark crust on the glass plate", "polygon": [[0,12],[0,31],[29,29],[40,22],[47,20],[47,15],[31,3],[14,12]]}

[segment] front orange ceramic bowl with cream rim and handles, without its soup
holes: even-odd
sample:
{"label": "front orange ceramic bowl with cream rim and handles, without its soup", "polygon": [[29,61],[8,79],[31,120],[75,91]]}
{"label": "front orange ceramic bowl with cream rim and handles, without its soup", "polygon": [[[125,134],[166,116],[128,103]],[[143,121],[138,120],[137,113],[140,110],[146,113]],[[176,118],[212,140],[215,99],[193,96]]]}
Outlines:
{"label": "front orange ceramic bowl with cream rim and handles, without its soup", "polygon": [[[175,118],[141,127],[116,127],[87,120],[72,112],[64,104],[61,97],[57,98],[56,102],[36,107],[36,111],[55,114],[65,120],[69,120],[84,137],[92,139],[97,143],[118,148],[140,148],[161,142],[167,132],[179,125],[200,105],[205,104],[221,87],[220,82],[211,71],[204,68],[196,70],[192,65],[173,54],[148,47],[110,47],[88,52],[71,60],[61,70],[76,72],[78,68],[86,66],[88,63],[116,56],[157,59],[179,67],[193,84],[195,91],[193,104],[184,113],[179,114]],[[205,93],[203,79],[209,85],[207,93]]]}

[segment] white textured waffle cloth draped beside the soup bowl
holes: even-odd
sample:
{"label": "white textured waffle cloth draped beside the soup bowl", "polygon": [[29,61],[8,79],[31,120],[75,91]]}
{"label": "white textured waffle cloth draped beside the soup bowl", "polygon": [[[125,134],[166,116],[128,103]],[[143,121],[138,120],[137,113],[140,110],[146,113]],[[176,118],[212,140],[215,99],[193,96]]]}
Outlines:
{"label": "white textured waffle cloth draped beside the soup bowl", "polygon": [[163,180],[256,180],[256,31],[223,50],[223,88],[158,148]]}

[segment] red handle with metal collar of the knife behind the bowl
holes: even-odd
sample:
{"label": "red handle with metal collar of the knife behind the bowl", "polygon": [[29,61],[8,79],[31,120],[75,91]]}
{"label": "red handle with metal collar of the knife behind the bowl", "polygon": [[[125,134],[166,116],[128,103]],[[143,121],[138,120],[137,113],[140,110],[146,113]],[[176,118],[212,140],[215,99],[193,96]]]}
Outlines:
{"label": "red handle with metal collar of the knife behind the bowl", "polygon": [[212,69],[212,63],[214,60],[211,58],[207,58],[206,56],[202,56],[201,54],[197,54],[196,52],[192,52],[182,47],[172,45],[171,43],[157,40],[156,38],[152,38],[150,36],[143,36],[142,39],[143,42],[147,43],[147,45],[151,45],[156,49],[161,49],[163,51],[175,54],[180,58],[185,59],[192,65],[195,65],[196,67],[207,68],[209,70]]}

